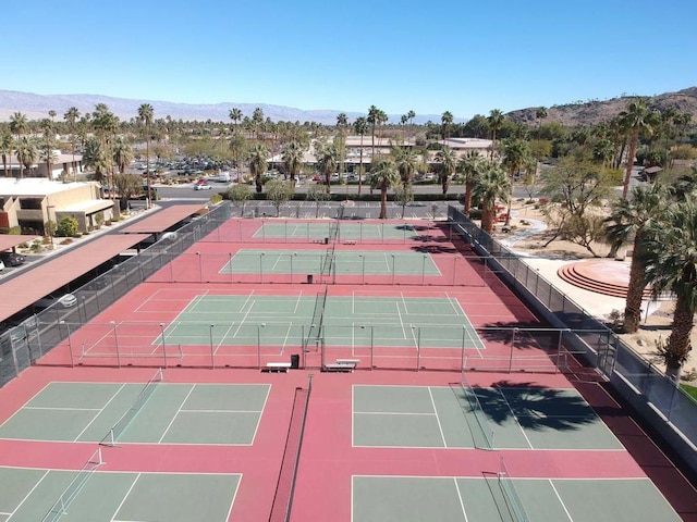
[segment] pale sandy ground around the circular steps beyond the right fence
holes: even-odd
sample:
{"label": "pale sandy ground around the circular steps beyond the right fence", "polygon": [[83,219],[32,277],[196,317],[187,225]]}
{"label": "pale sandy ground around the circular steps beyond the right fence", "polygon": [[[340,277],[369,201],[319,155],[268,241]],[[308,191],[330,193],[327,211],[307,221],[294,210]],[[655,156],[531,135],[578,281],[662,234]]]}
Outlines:
{"label": "pale sandy ground around the circular steps beyond the right fence", "polygon": [[[551,234],[546,229],[542,214],[534,208],[534,204],[514,201],[511,214],[511,232],[503,233],[502,224],[499,224],[497,225],[497,238],[508,244],[515,252],[527,257],[530,266],[539,271],[540,275],[564,291],[591,315],[607,321],[608,314],[613,310],[624,311],[624,299],[580,289],[557,275],[557,271],[563,264],[583,259],[594,259],[585,247],[563,240],[554,240],[545,247],[543,245],[551,238]],[[604,257],[610,248],[607,245],[594,245],[594,250],[598,256]],[[624,262],[629,263],[631,260],[627,258]],[[664,340],[670,336],[673,309],[673,301],[647,301],[639,331],[635,334],[621,335],[628,345],[659,368],[662,368],[662,363],[656,355],[656,341]],[[697,346],[697,328],[693,328],[692,343],[693,346]],[[697,384],[697,353],[695,352],[685,363],[683,380],[690,382],[690,384]]]}

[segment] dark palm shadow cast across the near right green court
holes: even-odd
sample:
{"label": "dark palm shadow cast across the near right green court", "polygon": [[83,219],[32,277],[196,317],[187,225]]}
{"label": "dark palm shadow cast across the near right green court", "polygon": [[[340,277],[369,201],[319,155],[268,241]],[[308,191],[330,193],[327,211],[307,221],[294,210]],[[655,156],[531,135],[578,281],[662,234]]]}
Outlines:
{"label": "dark palm shadow cast across the near right green court", "polygon": [[568,431],[599,421],[580,395],[530,382],[503,380],[491,387],[475,386],[472,389],[487,418],[499,425],[515,419],[525,430]]}

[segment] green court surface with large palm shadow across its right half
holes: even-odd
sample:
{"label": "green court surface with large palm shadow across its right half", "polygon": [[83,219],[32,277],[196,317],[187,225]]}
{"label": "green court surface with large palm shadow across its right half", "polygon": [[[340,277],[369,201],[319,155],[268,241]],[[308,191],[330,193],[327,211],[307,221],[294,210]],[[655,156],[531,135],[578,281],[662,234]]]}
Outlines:
{"label": "green court surface with large palm shadow across its right half", "polygon": [[353,394],[354,446],[623,449],[573,389],[354,386]]}

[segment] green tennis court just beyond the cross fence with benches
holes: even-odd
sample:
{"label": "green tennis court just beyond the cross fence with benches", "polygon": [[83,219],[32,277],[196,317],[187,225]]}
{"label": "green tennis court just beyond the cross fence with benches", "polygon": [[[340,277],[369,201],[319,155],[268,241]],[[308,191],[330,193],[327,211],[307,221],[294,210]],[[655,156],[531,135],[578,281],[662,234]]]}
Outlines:
{"label": "green tennis court just beyond the cross fence with benches", "polygon": [[[166,328],[164,341],[168,346],[298,346],[321,321],[327,346],[484,349],[456,299],[323,299],[323,291],[314,297],[198,296]],[[154,336],[151,343],[160,340]]]}

